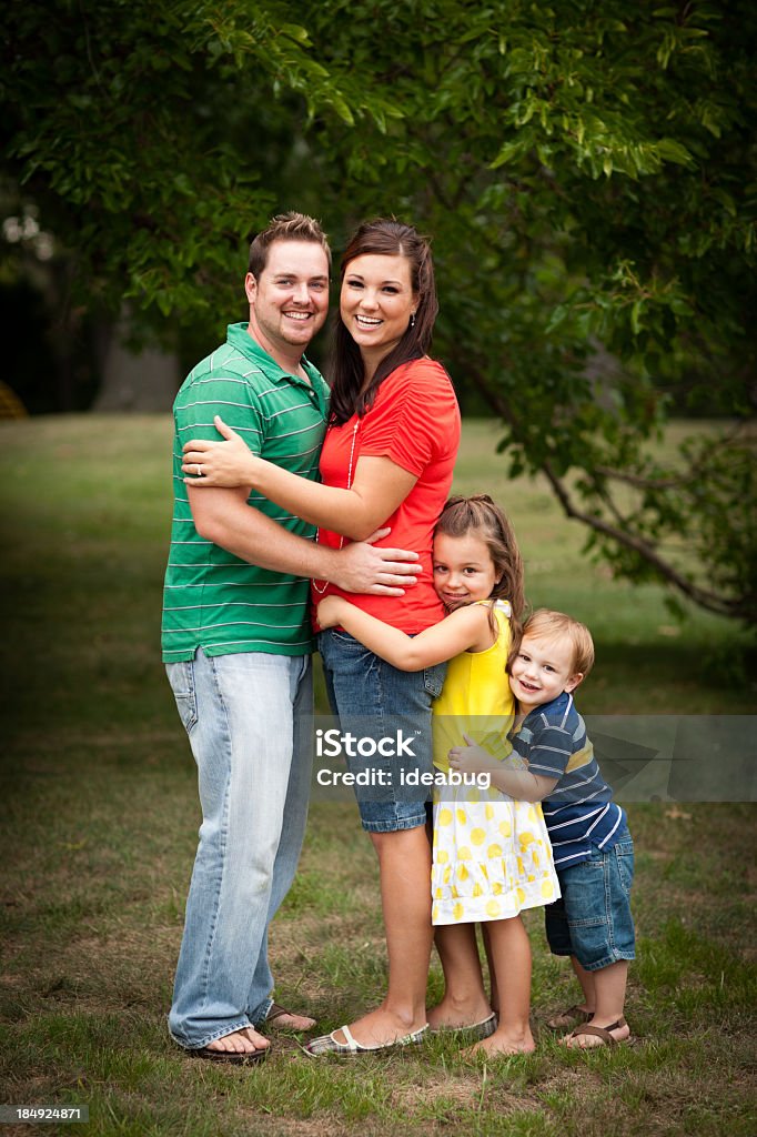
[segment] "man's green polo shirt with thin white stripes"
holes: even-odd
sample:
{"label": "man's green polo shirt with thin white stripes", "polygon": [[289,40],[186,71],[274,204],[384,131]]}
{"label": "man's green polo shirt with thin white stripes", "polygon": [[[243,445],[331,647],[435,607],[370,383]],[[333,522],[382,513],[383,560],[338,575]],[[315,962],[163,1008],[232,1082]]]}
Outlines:
{"label": "man's green polo shirt with thin white stripes", "polygon": [[[253,454],[316,480],[326,429],[328,388],[305,358],[310,384],[282,371],[247,331],[230,324],[226,342],[194,367],[174,404],[174,516],[163,608],[163,658],[313,650],[309,581],[241,561],[205,540],[192,521],[182,447],[218,439],[213,416],[233,426]],[[252,491],[248,504],[308,540],[315,526]]]}

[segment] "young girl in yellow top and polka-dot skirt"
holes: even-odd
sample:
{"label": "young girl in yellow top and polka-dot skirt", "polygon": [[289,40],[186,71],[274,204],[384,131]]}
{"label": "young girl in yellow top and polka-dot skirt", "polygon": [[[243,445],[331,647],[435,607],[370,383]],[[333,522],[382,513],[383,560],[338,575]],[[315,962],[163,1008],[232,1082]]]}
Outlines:
{"label": "young girl in yellow top and polka-dot skirt", "polygon": [[[434,588],[449,615],[409,637],[341,597],[318,605],[318,623],[339,624],[401,671],[451,659],[434,705],[434,764],[463,736],[514,763],[505,742],[514,703],[505,673],[510,621],[523,608],[523,564],[502,512],[486,495],[455,497],[434,531]],[[547,829],[538,805],[496,789],[444,786],[434,792],[432,920],[447,989],[429,1019],[466,1027],[490,1054],[532,1051],[529,1026],[531,949],[519,913],[559,896]],[[475,941],[485,923],[492,972],[486,1003]]]}

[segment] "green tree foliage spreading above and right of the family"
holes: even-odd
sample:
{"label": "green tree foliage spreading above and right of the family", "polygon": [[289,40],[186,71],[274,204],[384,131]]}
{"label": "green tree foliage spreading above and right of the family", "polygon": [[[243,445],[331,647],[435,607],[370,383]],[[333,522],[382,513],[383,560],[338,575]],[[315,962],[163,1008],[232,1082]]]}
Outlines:
{"label": "green tree foliage spreading above and right of the family", "polygon": [[[274,209],[413,219],[510,468],[616,572],[755,622],[751,5],[11,8],[5,167],[86,288],[198,319]],[[725,425],[664,462],[672,410]]]}

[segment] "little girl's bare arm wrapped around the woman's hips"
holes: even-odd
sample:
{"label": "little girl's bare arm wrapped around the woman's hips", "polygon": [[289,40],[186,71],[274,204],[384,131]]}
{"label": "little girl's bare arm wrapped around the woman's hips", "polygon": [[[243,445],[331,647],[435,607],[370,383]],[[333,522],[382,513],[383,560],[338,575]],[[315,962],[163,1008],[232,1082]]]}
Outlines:
{"label": "little girl's bare arm wrapped around the woman's hips", "polygon": [[417,636],[391,628],[341,596],[322,600],[317,620],[322,628],[339,624],[399,671],[422,671],[468,649],[485,652],[494,641],[489,611],[481,604],[457,608]]}

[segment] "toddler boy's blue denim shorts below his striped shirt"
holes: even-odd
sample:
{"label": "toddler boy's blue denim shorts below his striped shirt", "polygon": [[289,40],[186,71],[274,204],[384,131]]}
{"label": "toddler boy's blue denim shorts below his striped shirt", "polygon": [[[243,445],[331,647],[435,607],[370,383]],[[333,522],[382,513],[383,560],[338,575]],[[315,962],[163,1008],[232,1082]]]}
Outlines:
{"label": "toddler boy's blue denim shorts below his striped shirt", "polygon": [[633,841],[625,831],[609,849],[592,846],[589,861],[558,869],[561,897],[544,908],[554,955],[575,955],[587,971],[635,958],[631,883]]}

